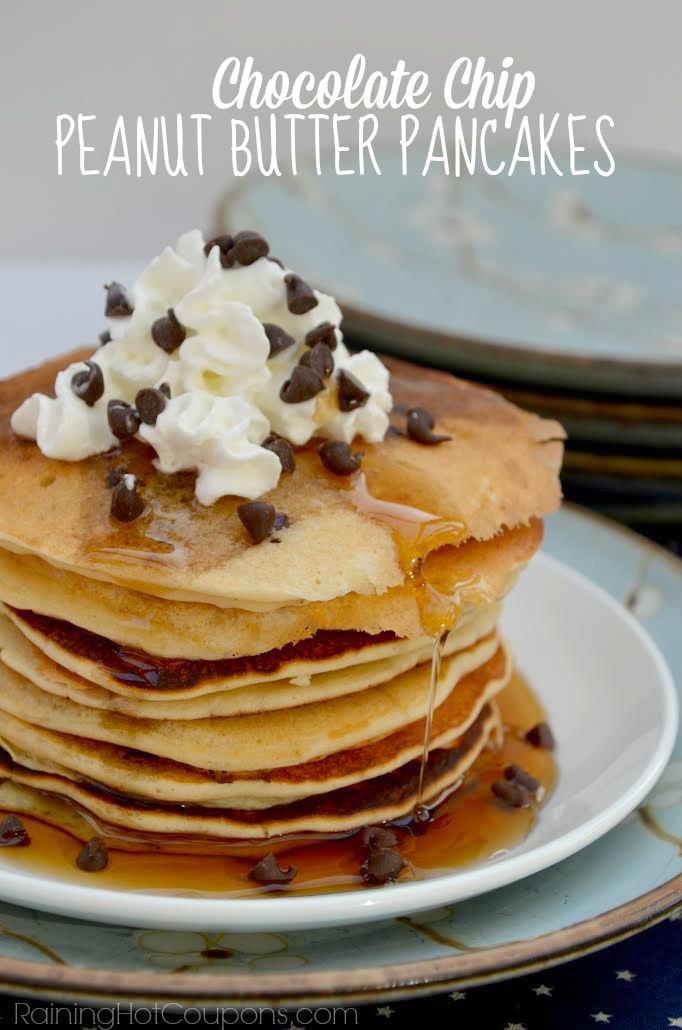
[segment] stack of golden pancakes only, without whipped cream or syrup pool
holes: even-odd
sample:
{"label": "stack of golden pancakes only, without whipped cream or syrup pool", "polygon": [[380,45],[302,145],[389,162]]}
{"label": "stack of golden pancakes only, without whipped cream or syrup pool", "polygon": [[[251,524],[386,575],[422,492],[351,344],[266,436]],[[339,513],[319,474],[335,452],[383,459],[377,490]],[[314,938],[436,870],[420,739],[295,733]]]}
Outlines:
{"label": "stack of golden pancakes only, without whipped cream or syrup pool", "polygon": [[[239,499],[201,508],[141,444],[71,464],[12,435],[81,356],[0,384],[0,808],[49,820],[66,798],[103,834],[258,840],[452,789],[501,731],[500,603],[558,505],[560,427],[390,362],[394,432],[353,477],[297,451],[266,499],[288,524],[254,545]],[[399,432],[413,406],[450,439]],[[149,506],[128,524],[122,466]]]}

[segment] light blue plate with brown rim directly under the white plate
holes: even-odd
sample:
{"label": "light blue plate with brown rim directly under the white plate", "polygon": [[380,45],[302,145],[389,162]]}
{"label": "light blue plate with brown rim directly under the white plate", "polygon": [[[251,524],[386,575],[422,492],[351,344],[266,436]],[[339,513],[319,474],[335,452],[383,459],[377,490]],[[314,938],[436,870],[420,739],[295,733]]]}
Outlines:
{"label": "light blue plate with brown rim directly under the white plate", "polygon": [[[549,519],[545,547],[630,608],[682,693],[682,562],[576,509]],[[682,739],[636,815],[573,858],[483,897],[368,927],[288,934],[96,926],[0,904],[0,989],[204,1004],[405,996],[565,961],[681,903]]]}

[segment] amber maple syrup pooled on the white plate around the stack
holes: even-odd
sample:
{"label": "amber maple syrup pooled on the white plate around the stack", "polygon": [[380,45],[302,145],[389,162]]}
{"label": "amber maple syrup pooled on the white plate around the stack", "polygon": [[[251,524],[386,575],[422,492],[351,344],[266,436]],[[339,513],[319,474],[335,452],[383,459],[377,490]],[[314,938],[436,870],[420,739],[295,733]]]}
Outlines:
{"label": "amber maple syrup pooled on the white plate around the stack", "polygon": [[[398,848],[407,862],[400,882],[425,880],[473,863],[498,858],[518,845],[531,830],[538,805],[510,809],[497,800],[491,784],[504,776],[507,765],[525,768],[544,787],[543,798],[551,792],[556,767],[550,752],[534,748],[525,732],[545,719],[542,706],[523,679],[514,675],[498,695],[504,743],[488,745],[463,778],[456,790],[431,809],[424,827],[414,819],[395,824]],[[3,813],[3,815],[6,813]],[[98,830],[84,814],[83,837]],[[82,844],[64,830],[55,829],[35,818],[22,816],[30,836],[28,848],[0,850],[0,863],[95,887],[151,890],[157,893],[191,896],[253,896],[273,890],[286,895],[366,889],[360,866],[366,856],[361,834],[307,835],[277,842],[274,850],[282,866],[294,864],[296,879],[277,888],[248,880],[248,870],[259,855],[273,850],[274,842],[247,849],[238,844],[216,844],[212,854],[205,845],[178,842],[177,853],[160,852],[136,845],[130,838],[117,842],[108,831],[109,864],[99,872],[83,872],[75,862]],[[180,853],[180,848],[184,852]]]}

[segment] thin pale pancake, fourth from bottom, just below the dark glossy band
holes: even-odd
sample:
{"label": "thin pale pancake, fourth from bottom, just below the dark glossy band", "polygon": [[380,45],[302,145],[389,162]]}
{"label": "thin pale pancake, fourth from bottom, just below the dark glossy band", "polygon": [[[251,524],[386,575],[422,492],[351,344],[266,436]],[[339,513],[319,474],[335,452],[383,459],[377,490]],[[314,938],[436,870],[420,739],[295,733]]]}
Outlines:
{"label": "thin pale pancake, fourth from bottom, just below the dark glossy band", "polygon": [[[469,647],[487,636],[495,628],[499,606],[491,605],[477,613],[475,618],[458,626],[447,638],[443,652],[446,655]],[[49,639],[42,638],[41,646],[49,647]],[[394,645],[394,654],[350,664],[329,673],[283,680],[274,683],[257,683],[231,690],[198,693],[195,688],[179,690],[145,690],[116,683],[116,690],[97,686],[93,677],[86,679],[60,665],[19,631],[9,619],[0,615],[0,659],[15,673],[26,677],[42,690],[60,697],[84,705],[88,708],[121,712],[133,718],[151,719],[206,719],[213,716],[237,716],[276,709],[296,708],[313,701],[328,700],[343,694],[355,693],[367,687],[378,686],[431,658],[433,644],[425,647],[405,647],[409,642]],[[65,662],[68,653],[62,653]],[[84,664],[84,663],[83,663]],[[102,677],[104,679],[104,677]],[[115,682],[115,681],[114,681]],[[177,699],[173,699],[177,698]]]}

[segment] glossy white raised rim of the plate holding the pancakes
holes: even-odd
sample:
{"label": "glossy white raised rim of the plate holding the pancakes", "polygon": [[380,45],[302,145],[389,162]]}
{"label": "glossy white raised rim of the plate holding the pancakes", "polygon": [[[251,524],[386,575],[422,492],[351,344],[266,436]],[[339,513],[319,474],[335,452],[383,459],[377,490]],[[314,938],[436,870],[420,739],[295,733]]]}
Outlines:
{"label": "glossy white raised rim of the plate holding the pancakes", "polygon": [[[286,933],[322,927],[357,925],[384,919],[413,917],[440,905],[454,904],[509,886],[582,851],[622,822],[653,789],[675,747],[679,705],[675,682],[657,645],[633,615],[608,591],[587,576],[553,555],[542,553],[536,569],[557,577],[568,589],[571,584],[587,591],[602,606],[605,617],[618,621],[638,642],[649,660],[658,685],[664,718],[655,748],[642,761],[632,784],[614,797],[606,809],[595,812],[579,825],[520,854],[512,854],[493,865],[473,866],[429,881],[398,885],[397,889],[366,890],[349,899],[345,894],[303,898],[251,899],[243,897],[173,897],[154,890],[122,892],[114,888],[66,883],[54,877],[36,876],[12,867],[0,867],[2,896],[16,904],[38,911],[113,926],[131,925],[131,904],[140,907],[133,917],[136,929],[232,930],[233,932]],[[624,625],[623,625],[624,624]],[[58,898],[54,901],[53,898]],[[323,915],[318,917],[322,902]]]}

